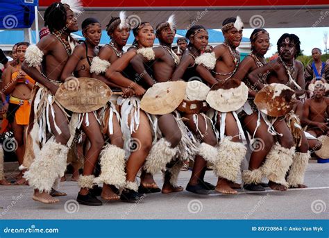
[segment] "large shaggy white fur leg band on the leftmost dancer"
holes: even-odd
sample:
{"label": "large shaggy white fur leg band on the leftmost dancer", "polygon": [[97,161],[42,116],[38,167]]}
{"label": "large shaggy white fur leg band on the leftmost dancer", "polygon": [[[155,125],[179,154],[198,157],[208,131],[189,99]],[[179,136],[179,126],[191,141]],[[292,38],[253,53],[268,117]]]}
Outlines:
{"label": "large shaggy white fur leg band on the leftmost dancer", "polygon": [[39,192],[51,192],[56,178],[64,176],[68,152],[67,146],[49,139],[24,173],[28,184]]}

